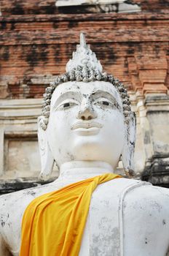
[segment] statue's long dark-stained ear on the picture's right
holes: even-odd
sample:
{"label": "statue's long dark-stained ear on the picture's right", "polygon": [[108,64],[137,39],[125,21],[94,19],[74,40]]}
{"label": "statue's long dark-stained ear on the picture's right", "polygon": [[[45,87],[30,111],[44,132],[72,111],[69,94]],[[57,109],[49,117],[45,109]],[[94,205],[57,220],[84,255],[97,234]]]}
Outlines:
{"label": "statue's long dark-stained ear on the picture's right", "polygon": [[136,117],[131,112],[129,121],[125,124],[125,143],[122,149],[122,165],[127,176],[134,176],[135,128]]}

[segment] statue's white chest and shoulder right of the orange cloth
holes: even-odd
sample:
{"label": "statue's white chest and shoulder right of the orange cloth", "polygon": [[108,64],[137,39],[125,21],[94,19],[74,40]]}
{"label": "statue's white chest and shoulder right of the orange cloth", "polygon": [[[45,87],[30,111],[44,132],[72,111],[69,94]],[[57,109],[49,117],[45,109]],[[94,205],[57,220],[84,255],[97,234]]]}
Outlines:
{"label": "statue's white chest and shoulder right of the orange cloth", "polygon": [[[93,193],[79,256],[165,256],[168,214],[154,197],[98,187]],[[115,192],[116,191],[116,192]],[[169,202],[168,202],[169,203]]]}

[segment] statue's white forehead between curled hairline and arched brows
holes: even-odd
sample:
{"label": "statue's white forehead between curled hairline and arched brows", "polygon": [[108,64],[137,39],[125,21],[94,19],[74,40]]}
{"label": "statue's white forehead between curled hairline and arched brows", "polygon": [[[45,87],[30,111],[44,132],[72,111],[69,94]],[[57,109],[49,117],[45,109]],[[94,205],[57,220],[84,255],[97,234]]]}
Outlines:
{"label": "statue's white forehead between curled hairline and arched brows", "polygon": [[[66,96],[68,96],[70,91],[78,92],[79,94],[82,94],[82,95],[85,94],[87,96],[90,96],[91,94],[95,93],[96,91],[103,93],[103,95],[104,95],[104,93],[109,93],[113,97],[115,97],[120,104],[122,104],[122,99],[119,96],[119,92],[109,82],[93,81],[93,82],[84,83],[84,82],[70,81],[70,82],[66,82],[66,83],[60,83],[60,85],[57,86],[57,88],[55,89],[55,91],[52,94],[51,105],[61,95],[65,94]],[[71,96],[69,96],[69,97],[71,97]]]}

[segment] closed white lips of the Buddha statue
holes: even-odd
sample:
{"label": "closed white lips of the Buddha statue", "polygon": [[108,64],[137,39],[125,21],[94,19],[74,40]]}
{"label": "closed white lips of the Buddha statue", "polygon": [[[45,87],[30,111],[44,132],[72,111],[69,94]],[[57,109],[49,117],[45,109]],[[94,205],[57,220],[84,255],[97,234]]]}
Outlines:
{"label": "closed white lips of the Buddha statue", "polygon": [[78,135],[88,136],[97,135],[101,127],[103,127],[103,125],[95,121],[79,121],[76,124],[73,124],[71,129]]}

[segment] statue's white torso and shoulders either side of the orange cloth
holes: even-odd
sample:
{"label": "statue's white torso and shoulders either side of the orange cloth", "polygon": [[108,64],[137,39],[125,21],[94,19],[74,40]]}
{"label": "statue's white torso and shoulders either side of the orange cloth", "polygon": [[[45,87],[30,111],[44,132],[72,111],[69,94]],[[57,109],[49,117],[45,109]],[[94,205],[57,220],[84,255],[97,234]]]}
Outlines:
{"label": "statue's white torso and shoulders either side of the orange cloth", "polygon": [[[0,233],[13,255],[19,255],[21,222],[28,203],[67,184],[55,181],[1,197]],[[127,178],[95,189],[79,256],[165,256],[168,245],[168,189]]]}

